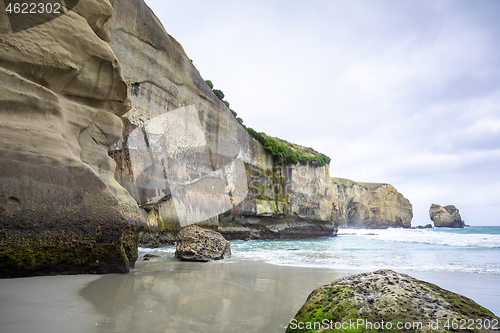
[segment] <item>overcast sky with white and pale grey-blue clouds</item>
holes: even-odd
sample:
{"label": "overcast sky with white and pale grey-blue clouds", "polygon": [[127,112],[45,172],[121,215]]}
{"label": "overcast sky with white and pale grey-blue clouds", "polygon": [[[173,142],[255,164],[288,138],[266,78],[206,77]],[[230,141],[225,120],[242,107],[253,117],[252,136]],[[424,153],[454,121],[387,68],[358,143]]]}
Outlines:
{"label": "overcast sky with white and pale grey-blue clouds", "polygon": [[146,0],[245,125],[500,225],[500,1]]}

